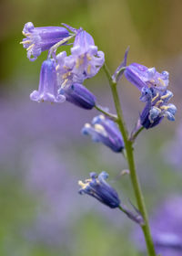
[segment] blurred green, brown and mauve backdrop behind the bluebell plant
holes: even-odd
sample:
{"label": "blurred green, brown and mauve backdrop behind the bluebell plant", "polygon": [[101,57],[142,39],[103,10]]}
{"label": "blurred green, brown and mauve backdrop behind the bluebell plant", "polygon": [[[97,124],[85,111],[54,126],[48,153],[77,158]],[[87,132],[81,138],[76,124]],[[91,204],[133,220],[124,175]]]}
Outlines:
{"label": "blurred green, brown and mauve backdrop behind the bluebell plant", "polygon": [[[112,71],[127,46],[128,63],[169,71],[177,121],[165,120],[136,142],[137,171],[152,213],[167,195],[182,192],[182,2],[2,0],[0,10],[0,255],[142,255],[131,238],[135,224],[117,210],[77,195],[78,179],[106,170],[121,199],[127,204],[129,197],[135,204],[129,178],[116,178],[126,168],[125,160],[81,136],[82,126],[96,111],[29,101],[47,53],[30,62],[19,42],[28,21],[35,27],[64,22],[84,27],[95,38]],[[114,111],[102,70],[86,86]],[[138,103],[139,92],[125,79],[119,87],[131,130],[143,105]]]}

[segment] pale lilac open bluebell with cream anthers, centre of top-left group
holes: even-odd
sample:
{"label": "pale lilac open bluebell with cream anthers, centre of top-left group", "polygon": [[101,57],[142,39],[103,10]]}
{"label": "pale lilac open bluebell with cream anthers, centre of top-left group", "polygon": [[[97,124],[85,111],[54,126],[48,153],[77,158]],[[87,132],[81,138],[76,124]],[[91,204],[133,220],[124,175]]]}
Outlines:
{"label": "pale lilac open bluebell with cream anthers, centre of top-left group", "polygon": [[71,55],[66,52],[57,56],[59,83],[63,87],[67,83],[82,83],[92,78],[105,62],[103,51],[98,51],[94,39],[82,28],[77,30]]}

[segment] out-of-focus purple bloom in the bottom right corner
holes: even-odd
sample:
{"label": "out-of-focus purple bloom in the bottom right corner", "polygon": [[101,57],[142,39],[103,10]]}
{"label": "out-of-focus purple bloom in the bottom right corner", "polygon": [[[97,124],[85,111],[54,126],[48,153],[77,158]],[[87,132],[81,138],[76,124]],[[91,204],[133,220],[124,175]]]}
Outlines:
{"label": "out-of-focus purple bloom in the bottom right corner", "polygon": [[[157,209],[150,221],[152,237],[157,254],[163,256],[182,255],[182,197],[167,198]],[[142,233],[136,231],[137,245],[144,251]]]}

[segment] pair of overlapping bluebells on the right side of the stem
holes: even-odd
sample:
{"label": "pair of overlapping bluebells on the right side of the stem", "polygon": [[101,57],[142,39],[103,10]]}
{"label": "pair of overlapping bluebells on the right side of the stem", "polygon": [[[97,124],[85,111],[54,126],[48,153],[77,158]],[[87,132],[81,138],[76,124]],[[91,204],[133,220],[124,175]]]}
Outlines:
{"label": "pair of overlapping bluebells on the right side of the stem", "polygon": [[126,79],[141,91],[140,101],[146,102],[146,107],[140,114],[140,123],[146,129],[156,126],[166,116],[169,121],[175,121],[177,108],[168,103],[173,93],[167,90],[168,72],[158,73],[155,68],[132,63],[124,72]]}

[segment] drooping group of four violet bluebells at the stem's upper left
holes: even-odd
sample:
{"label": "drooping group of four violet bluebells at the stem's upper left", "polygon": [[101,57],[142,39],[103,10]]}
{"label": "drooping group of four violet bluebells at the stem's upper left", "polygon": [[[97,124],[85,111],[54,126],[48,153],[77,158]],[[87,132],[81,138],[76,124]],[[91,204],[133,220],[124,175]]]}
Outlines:
{"label": "drooping group of four violet bluebells at the stem's upper left", "polygon": [[[49,50],[48,59],[42,64],[38,91],[33,91],[30,99],[38,102],[69,101],[81,108],[92,109],[96,97],[83,86],[83,82],[96,75],[105,62],[105,55],[83,28],[64,26],[34,27],[31,22],[25,24],[25,38],[21,43],[27,50],[28,59],[34,61],[42,51]],[[62,51],[56,55],[56,48],[66,45],[71,37],[75,37],[71,54],[67,56],[66,51]]]}

